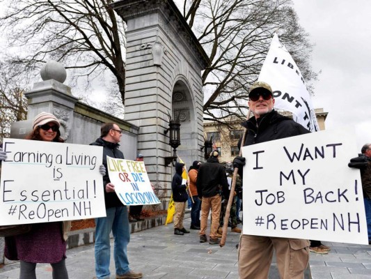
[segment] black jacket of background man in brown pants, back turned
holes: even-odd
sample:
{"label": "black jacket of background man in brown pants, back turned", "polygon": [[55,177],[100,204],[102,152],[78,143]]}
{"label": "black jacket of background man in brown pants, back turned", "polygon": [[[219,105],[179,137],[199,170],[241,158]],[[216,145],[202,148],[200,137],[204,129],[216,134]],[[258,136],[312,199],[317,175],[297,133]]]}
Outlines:
{"label": "black jacket of background man in brown pants, back turned", "polygon": [[206,163],[200,165],[197,174],[198,197],[214,197],[223,191],[224,197],[228,199],[228,180],[226,168],[219,164],[217,158],[209,158]]}

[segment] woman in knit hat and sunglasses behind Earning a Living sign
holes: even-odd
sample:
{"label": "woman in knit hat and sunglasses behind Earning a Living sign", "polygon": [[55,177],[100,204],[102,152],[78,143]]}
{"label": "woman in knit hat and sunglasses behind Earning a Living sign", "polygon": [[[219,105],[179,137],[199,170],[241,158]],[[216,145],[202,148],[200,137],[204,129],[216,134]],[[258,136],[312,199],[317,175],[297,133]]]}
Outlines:
{"label": "woman in knit hat and sunglasses behind Earning a Living sign", "polygon": [[[60,126],[56,116],[41,112],[33,119],[33,130],[25,139],[64,142],[59,132]],[[14,236],[20,260],[19,279],[35,279],[37,263],[51,264],[53,279],[68,279],[65,250],[70,227],[70,221],[37,223],[32,225],[30,232]]]}

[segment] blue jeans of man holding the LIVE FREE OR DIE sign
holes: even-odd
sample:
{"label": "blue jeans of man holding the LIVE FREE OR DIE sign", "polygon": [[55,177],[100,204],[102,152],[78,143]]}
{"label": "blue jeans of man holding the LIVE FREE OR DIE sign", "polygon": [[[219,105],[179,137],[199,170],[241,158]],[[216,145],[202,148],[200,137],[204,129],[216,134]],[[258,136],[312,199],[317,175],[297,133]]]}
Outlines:
{"label": "blue jeans of man holding the LIVE FREE OR DIE sign", "polygon": [[98,279],[111,276],[109,272],[111,231],[114,239],[113,258],[116,275],[123,275],[129,271],[127,244],[130,241],[130,228],[127,206],[109,207],[106,209],[106,215],[103,218],[95,218],[95,274]]}

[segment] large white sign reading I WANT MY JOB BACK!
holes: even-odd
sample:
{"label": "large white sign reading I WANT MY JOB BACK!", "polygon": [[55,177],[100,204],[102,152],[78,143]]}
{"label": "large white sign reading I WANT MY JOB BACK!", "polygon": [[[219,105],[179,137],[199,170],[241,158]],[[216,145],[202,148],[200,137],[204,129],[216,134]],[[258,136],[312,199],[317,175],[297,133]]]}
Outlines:
{"label": "large white sign reading I WANT MY JOB BACK!", "polygon": [[244,234],[368,244],[354,130],[242,147]]}

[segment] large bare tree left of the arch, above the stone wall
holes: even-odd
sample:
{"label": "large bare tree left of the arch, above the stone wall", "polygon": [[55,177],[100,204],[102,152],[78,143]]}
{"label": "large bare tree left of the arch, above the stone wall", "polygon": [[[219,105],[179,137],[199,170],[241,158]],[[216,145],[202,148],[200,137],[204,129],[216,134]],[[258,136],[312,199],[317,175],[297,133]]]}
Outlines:
{"label": "large bare tree left of the arch, above the stone wall", "polygon": [[[125,100],[125,23],[112,0],[8,0],[0,28],[9,44],[27,52],[11,55],[10,66],[40,68],[48,59],[73,69],[72,83],[85,84],[109,70]],[[19,48],[18,48],[19,49]]]}

